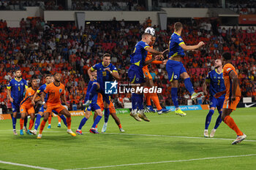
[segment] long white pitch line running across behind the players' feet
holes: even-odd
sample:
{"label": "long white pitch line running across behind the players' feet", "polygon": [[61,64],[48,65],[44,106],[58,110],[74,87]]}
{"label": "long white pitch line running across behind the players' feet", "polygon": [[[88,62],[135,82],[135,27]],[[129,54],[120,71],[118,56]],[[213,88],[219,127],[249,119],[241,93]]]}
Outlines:
{"label": "long white pitch line running across behind the players' feet", "polygon": [[[12,130],[0,130],[0,131],[12,131]],[[64,131],[44,131],[50,133],[63,133]],[[89,132],[83,132],[83,134],[90,134]],[[171,137],[171,138],[184,138],[184,139],[207,139],[207,140],[226,140],[233,141],[234,139],[228,138],[206,138],[206,137],[195,137],[195,136],[172,136],[172,135],[159,135],[159,134],[124,134],[124,133],[104,133],[104,134],[114,134],[114,135],[130,135],[130,136],[156,136],[156,137]],[[256,142],[256,140],[244,139],[246,142]]]}

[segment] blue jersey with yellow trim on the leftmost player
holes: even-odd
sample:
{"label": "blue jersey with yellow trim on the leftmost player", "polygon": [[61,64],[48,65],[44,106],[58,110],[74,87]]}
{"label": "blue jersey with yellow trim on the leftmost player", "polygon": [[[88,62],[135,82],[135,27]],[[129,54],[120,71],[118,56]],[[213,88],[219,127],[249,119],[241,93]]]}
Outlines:
{"label": "blue jersey with yellow trim on the leftmost player", "polygon": [[28,83],[24,79],[21,79],[20,81],[16,78],[12,79],[7,85],[7,89],[11,90],[13,102],[16,104],[20,104],[20,101],[23,100],[26,88],[28,88]]}

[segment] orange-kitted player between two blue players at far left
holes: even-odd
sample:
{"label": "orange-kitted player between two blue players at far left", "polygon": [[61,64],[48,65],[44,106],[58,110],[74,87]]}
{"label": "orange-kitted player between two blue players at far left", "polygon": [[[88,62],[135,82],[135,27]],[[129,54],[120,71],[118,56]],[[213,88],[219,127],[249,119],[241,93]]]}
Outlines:
{"label": "orange-kitted player between two blue players at far left", "polygon": [[34,125],[34,105],[31,103],[31,99],[34,93],[37,92],[37,79],[33,77],[31,79],[31,87],[26,89],[25,97],[23,101],[20,102],[20,135],[23,135],[23,125],[24,119],[27,115],[30,115],[29,130],[26,131],[27,134],[32,134],[31,128]]}

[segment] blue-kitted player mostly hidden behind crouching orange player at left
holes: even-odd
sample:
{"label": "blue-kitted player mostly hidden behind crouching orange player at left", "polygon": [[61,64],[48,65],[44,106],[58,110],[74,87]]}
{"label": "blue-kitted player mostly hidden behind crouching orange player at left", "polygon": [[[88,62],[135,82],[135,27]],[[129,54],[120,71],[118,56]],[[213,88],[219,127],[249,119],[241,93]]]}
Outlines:
{"label": "blue-kitted player mostly hidden behind crouching orange player at left", "polygon": [[[42,92],[45,90],[46,86],[50,84],[50,82],[53,82],[52,76],[50,74],[47,74],[45,76],[45,84],[41,85],[39,87],[39,89],[37,90],[37,93],[34,94],[32,101],[31,101],[32,104],[35,104],[35,100],[36,100],[37,96],[41,96]],[[48,94],[45,95],[45,102],[47,101],[47,99],[48,99]],[[44,111],[45,111],[45,109],[43,108],[43,104],[42,104],[42,106],[40,107],[39,112],[37,114],[37,120],[34,123],[34,131],[31,131],[31,133],[34,135],[37,134],[37,129],[40,125],[40,119],[41,119],[42,115],[44,115]],[[53,113],[58,115],[58,112],[56,112],[55,110],[53,110]],[[61,115],[60,117],[63,120],[64,124],[67,126],[66,117],[64,117],[64,115]]]}

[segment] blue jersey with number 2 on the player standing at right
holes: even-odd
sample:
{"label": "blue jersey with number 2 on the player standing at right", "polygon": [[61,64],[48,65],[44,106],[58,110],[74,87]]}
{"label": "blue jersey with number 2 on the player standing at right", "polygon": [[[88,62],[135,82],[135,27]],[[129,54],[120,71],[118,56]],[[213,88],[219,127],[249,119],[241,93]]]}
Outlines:
{"label": "blue jersey with number 2 on the player standing at right", "polygon": [[[219,74],[217,73],[217,69],[208,72],[206,82],[210,83],[210,96],[214,96],[216,93],[224,91],[226,89],[223,79],[223,72]],[[219,98],[225,98],[225,94]]]}

